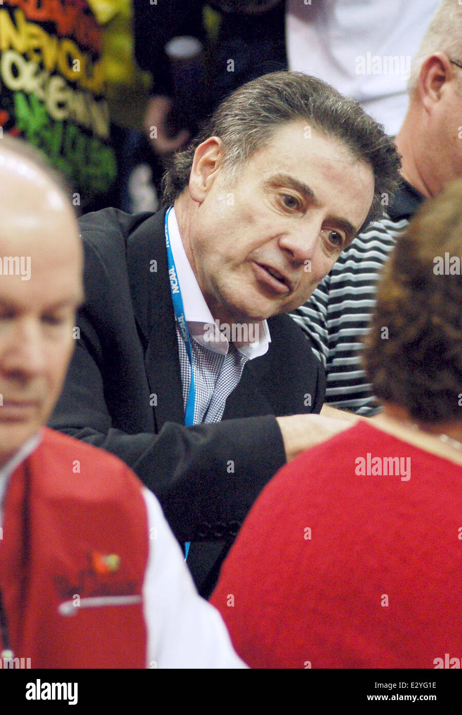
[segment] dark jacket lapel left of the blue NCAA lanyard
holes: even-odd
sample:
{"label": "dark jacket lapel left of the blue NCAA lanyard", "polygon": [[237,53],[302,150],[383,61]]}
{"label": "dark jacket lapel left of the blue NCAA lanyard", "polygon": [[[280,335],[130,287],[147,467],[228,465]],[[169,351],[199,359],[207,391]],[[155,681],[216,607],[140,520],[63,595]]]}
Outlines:
{"label": "dark jacket lapel left of the blue NCAA lanyard", "polygon": [[[131,299],[154,403],[156,431],[166,421],[184,424],[183,389],[171,302],[164,232],[165,211],[144,221],[127,240]],[[156,263],[154,263],[154,261]]]}

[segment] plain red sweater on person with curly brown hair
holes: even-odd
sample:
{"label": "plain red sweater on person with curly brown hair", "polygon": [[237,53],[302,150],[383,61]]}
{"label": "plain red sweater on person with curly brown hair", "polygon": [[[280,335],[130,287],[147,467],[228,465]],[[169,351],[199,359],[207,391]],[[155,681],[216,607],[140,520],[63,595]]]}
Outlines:
{"label": "plain red sweater on person with curly brown hair", "polygon": [[211,598],[237,653],[254,668],[456,667],[461,502],[461,466],[363,422],[299,455]]}

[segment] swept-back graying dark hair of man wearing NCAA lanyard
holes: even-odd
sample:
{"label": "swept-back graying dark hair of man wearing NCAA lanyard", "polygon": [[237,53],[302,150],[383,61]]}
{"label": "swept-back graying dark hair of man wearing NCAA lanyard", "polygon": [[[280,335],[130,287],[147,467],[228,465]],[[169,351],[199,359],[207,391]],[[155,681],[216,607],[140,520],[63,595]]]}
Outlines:
{"label": "swept-back graying dark hair of man wearing NCAA lanyard", "polygon": [[375,190],[363,227],[378,219],[383,213],[383,194],[390,201],[399,179],[400,161],[393,139],[357,102],[344,97],[330,84],[301,72],[287,71],[253,79],[221,102],[189,147],[175,154],[162,181],[163,204],[171,206],[186,189],[194,152],[208,137],[221,139],[222,166],[236,174],[253,152],[271,142],[277,129],[297,121],[341,140],[353,157],[371,167]]}

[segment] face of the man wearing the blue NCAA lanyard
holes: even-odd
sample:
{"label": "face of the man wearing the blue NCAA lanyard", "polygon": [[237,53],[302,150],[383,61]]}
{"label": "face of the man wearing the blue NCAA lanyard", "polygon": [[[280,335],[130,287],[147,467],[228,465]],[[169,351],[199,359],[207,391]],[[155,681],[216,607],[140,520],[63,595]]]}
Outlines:
{"label": "face of the man wearing the blue NCAA lanyard", "polygon": [[305,302],[353,239],[373,172],[337,139],[286,124],[236,182],[221,167],[189,231],[189,257],[214,318],[264,318]]}

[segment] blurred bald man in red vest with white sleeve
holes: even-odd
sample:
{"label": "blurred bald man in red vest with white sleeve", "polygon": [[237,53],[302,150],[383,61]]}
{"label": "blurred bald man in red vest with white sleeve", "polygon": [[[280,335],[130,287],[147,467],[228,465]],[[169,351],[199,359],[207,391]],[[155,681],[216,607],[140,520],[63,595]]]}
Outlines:
{"label": "blurred bald man in red vest with white sleeve", "polygon": [[116,457],[44,427],[84,297],[79,232],[17,140],[0,141],[0,185],[1,666],[244,667],[154,495]]}

